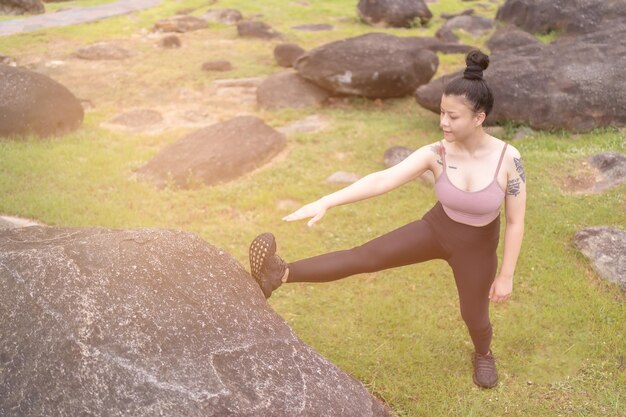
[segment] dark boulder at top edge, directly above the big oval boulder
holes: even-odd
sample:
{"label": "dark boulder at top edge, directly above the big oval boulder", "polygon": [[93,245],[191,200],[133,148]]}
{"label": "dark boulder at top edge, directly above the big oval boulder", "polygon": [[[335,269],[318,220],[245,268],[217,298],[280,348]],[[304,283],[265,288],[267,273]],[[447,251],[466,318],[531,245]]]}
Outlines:
{"label": "dark boulder at top edge, directly above the big oval boulder", "polygon": [[433,14],[423,0],[360,0],[357,11],[370,25],[410,27],[415,19],[426,24]]}

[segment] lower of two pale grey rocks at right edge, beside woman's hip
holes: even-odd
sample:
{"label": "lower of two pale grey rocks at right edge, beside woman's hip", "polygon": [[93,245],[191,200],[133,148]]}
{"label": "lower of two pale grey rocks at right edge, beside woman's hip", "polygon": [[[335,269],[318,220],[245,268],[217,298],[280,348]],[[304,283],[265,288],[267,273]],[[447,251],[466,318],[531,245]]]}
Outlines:
{"label": "lower of two pale grey rocks at right edge, beside woman's hip", "polygon": [[602,278],[619,284],[626,292],[626,230],[588,227],[576,233],[574,243]]}

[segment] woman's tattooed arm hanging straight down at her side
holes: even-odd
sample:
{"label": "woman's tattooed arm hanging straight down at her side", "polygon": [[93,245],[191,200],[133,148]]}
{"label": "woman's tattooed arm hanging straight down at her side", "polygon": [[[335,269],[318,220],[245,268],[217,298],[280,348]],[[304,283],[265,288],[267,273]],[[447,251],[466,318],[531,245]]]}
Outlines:
{"label": "woman's tattooed arm hanging straight down at her side", "polygon": [[524,237],[524,215],[526,213],[526,173],[522,157],[517,149],[511,147],[506,157],[506,197],[504,212],[506,226],[504,228],[504,256],[502,268],[496,277],[489,298],[496,303],[506,301],[513,291],[513,275],[515,264],[522,247]]}

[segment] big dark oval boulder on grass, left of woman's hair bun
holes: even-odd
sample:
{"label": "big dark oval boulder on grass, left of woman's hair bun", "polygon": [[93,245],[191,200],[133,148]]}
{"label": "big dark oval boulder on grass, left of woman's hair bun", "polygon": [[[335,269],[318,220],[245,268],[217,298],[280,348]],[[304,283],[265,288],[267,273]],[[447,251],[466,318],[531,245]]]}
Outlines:
{"label": "big dark oval boulder on grass, left of woman's hair bun", "polygon": [[415,39],[370,33],[322,45],[294,64],[298,73],[336,94],[401,97],[427,83],[437,55]]}

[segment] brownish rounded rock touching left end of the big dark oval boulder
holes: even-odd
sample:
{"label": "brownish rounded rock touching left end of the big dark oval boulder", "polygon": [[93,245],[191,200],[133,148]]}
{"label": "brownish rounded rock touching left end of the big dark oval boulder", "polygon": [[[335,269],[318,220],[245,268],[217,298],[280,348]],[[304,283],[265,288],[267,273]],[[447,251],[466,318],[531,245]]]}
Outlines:
{"label": "brownish rounded rock touching left end of the big dark oval boulder", "polygon": [[303,108],[323,103],[328,91],[287,71],[267,77],[257,89],[257,102],[266,109]]}

